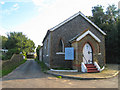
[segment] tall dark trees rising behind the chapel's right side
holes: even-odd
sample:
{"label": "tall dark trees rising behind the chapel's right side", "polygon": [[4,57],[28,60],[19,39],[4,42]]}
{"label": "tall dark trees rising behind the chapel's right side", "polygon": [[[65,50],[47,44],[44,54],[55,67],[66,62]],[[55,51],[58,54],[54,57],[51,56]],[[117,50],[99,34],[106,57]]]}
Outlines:
{"label": "tall dark trees rising behind the chapel's right side", "polygon": [[109,5],[104,12],[101,5],[92,8],[93,16],[89,16],[98,25],[106,36],[106,59],[107,63],[117,63],[118,60],[118,31],[120,29],[120,16],[115,5]]}

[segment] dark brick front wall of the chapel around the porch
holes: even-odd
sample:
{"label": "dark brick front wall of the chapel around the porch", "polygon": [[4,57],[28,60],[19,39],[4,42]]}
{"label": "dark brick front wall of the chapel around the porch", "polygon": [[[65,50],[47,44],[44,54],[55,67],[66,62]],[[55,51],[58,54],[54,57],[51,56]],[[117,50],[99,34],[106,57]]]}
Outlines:
{"label": "dark brick front wall of the chapel around the porch", "polygon": [[[94,27],[92,26],[89,22],[87,22],[83,17],[77,16],[71,21],[67,22],[66,24],[62,25],[61,27],[57,28],[56,30],[52,31],[51,37],[50,37],[50,64],[51,68],[56,68],[56,67],[72,67],[72,61],[65,61],[65,55],[61,54],[58,55],[56,54],[58,52],[58,43],[59,40],[62,39],[64,42],[65,47],[70,47],[71,44],[69,43],[69,40],[71,40],[73,37],[76,35],[83,33],[85,30],[90,30],[93,32],[98,38],[100,38],[101,43],[100,45],[100,50],[102,53],[103,58],[105,59],[105,39],[104,36]],[[48,36],[49,37],[49,36]],[[45,42],[44,42],[45,43]],[[45,52],[43,50],[43,52]],[[44,54],[43,54],[44,55]],[[44,60],[48,60],[47,58]],[[101,64],[103,61],[101,61]]]}

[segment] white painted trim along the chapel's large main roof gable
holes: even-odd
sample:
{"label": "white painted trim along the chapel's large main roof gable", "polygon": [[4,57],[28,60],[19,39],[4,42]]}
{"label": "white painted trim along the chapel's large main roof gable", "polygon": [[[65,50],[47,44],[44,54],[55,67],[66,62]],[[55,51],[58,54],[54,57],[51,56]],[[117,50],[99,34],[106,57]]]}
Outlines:
{"label": "white painted trim along the chapel's large main roof gable", "polygon": [[81,15],[84,19],[86,19],[89,23],[91,23],[96,29],[98,29],[103,35],[106,35],[105,32],[103,32],[97,25],[95,25],[91,20],[89,20],[84,14],[82,14],[80,11],[73,16],[69,17],[65,21],[61,22],[60,24],[56,25],[55,27],[51,28],[50,31],[54,31],[55,29],[59,28],[60,26],[64,25],[68,21],[72,20],[73,18],[77,17],[78,15]]}

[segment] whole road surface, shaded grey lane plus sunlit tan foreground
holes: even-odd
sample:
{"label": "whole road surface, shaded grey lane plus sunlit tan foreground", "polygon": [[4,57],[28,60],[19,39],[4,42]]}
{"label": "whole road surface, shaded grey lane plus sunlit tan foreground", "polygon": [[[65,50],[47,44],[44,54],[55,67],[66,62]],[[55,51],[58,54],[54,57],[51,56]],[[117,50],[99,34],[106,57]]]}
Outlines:
{"label": "whole road surface, shaded grey lane plus sunlit tan foreground", "polygon": [[118,88],[118,77],[103,80],[59,79],[42,73],[34,60],[28,60],[5,76],[2,85],[3,88]]}

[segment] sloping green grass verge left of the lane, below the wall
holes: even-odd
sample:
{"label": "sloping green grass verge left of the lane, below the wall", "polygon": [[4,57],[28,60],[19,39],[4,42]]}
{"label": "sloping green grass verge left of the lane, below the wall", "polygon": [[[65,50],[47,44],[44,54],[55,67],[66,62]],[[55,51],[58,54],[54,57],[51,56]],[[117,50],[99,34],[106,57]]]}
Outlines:
{"label": "sloping green grass verge left of the lane, below the wall", "polygon": [[5,75],[8,75],[9,73],[11,73],[13,70],[15,70],[18,66],[20,66],[21,64],[25,63],[26,62],[26,59],[22,60],[21,62],[19,63],[15,63],[14,65],[13,64],[9,64],[5,67],[2,68],[2,77],[5,76]]}

